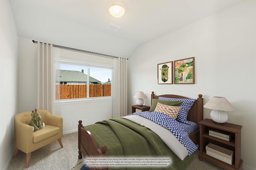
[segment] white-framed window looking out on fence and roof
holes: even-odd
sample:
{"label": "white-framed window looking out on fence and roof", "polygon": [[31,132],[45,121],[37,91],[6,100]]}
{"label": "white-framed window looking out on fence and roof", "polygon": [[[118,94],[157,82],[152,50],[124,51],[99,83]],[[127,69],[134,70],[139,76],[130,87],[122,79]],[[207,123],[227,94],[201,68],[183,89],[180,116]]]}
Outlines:
{"label": "white-framed window looking out on fence and roof", "polygon": [[[112,66],[85,61],[60,61],[56,99],[112,96]],[[58,83],[59,82],[59,83]]]}

